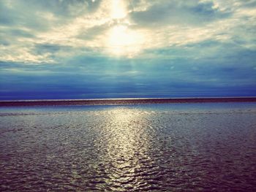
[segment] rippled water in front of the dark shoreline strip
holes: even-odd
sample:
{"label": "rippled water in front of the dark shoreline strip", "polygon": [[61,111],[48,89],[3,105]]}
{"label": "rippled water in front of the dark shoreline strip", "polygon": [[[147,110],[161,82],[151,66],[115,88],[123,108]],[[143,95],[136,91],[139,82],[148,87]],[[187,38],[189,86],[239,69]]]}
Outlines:
{"label": "rippled water in front of the dark shoreline strip", "polygon": [[256,190],[255,103],[0,110],[0,191]]}

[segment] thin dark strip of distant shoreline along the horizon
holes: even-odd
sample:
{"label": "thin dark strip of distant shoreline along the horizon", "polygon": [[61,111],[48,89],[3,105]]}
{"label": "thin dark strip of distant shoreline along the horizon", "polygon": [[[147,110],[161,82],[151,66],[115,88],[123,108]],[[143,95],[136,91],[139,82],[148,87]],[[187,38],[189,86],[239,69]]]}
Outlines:
{"label": "thin dark strip of distant shoreline along the horizon", "polygon": [[256,102],[256,97],[211,98],[132,98],[132,99],[63,99],[0,101],[0,107],[61,106],[61,105],[118,105],[118,104],[168,104],[168,103]]}

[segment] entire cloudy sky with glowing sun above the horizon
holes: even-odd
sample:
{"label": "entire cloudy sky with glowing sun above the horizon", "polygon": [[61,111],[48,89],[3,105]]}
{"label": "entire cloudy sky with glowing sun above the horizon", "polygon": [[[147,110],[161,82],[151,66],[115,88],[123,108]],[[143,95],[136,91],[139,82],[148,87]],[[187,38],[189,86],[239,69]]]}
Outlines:
{"label": "entire cloudy sky with glowing sun above the horizon", "polygon": [[1,0],[0,100],[256,96],[255,0]]}

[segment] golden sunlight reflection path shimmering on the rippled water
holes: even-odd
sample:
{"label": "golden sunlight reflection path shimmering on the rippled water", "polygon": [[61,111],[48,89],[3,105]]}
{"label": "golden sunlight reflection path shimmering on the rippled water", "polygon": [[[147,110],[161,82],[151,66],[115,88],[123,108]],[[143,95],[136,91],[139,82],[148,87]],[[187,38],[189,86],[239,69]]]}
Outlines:
{"label": "golden sunlight reflection path shimmering on the rippled water", "polygon": [[[108,111],[108,123],[105,124],[103,133],[109,133],[100,145],[105,145],[105,153],[101,159],[105,161],[105,180],[111,190],[125,191],[147,185],[143,180],[142,170],[145,166],[153,166],[148,156],[150,137],[146,120],[150,112],[141,112],[136,109],[116,108]],[[104,137],[99,137],[104,138]],[[103,143],[102,143],[103,142]],[[102,146],[99,146],[102,147]],[[108,162],[106,162],[108,160]]]}

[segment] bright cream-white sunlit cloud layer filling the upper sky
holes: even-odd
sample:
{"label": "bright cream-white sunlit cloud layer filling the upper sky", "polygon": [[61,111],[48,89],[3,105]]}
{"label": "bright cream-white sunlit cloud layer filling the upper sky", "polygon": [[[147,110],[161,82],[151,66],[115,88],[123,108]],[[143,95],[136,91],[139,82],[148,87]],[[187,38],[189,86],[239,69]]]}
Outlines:
{"label": "bright cream-white sunlit cloud layer filling the upper sky", "polygon": [[[239,41],[255,50],[255,1],[72,2],[1,1],[0,60],[53,63],[86,49],[89,54],[130,58],[145,50],[206,40]],[[37,52],[36,45],[58,45],[59,50]]]}

